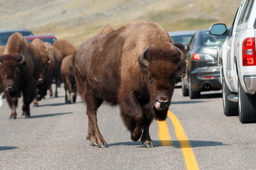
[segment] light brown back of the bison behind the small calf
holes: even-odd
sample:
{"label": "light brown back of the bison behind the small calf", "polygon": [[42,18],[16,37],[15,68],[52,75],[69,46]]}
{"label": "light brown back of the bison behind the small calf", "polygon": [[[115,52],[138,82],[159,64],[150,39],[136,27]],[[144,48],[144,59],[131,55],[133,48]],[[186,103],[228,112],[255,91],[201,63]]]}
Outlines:
{"label": "light brown back of the bison behind the small calf", "polygon": [[63,58],[76,54],[77,51],[76,47],[68,40],[56,40],[53,46],[61,52]]}

